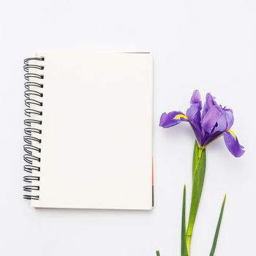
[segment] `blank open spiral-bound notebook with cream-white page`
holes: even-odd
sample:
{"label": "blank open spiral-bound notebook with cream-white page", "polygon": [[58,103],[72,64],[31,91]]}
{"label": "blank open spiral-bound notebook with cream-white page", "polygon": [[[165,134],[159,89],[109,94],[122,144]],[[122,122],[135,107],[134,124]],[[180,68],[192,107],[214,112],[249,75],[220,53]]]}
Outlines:
{"label": "blank open spiral-bound notebook with cream-white page", "polygon": [[36,53],[24,71],[31,206],[151,209],[151,53]]}

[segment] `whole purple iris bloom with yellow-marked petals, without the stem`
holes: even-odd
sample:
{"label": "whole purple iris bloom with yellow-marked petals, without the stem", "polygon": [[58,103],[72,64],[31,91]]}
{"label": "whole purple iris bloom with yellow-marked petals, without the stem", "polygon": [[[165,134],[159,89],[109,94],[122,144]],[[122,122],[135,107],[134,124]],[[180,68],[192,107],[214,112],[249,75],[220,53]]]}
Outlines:
{"label": "whole purple iris bloom with yellow-marked petals, without the stem", "polygon": [[244,154],[244,147],[239,144],[235,132],[230,130],[234,123],[233,111],[217,105],[211,94],[206,94],[206,102],[202,109],[200,92],[195,90],[186,114],[181,111],[162,113],[159,126],[169,128],[181,121],[189,122],[200,147],[205,148],[208,143],[223,135],[231,154],[235,157],[241,157]]}

